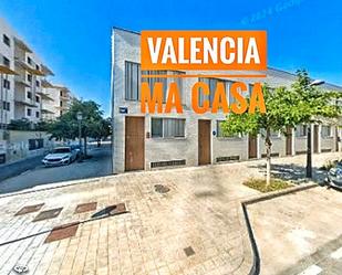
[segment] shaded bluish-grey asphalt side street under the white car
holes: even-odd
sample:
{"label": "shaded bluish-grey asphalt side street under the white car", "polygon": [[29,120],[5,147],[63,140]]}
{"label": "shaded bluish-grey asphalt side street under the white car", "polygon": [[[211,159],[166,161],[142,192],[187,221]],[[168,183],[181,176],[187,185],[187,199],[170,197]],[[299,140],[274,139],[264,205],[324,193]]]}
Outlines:
{"label": "shaded bluish-grey asphalt side street under the white car", "polygon": [[46,183],[102,177],[111,173],[111,147],[108,145],[100,148],[94,147],[89,150],[89,155],[92,158],[83,162],[75,161],[69,166],[50,168],[39,165],[17,177],[6,179],[0,182],[0,193],[10,193]]}

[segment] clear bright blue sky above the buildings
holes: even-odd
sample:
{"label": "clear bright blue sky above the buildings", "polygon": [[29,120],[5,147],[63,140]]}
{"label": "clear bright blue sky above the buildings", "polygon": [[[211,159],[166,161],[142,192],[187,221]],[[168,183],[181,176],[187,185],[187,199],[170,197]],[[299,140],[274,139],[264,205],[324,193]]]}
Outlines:
{"label": "clear bright blue sky above the buildings", "polygon": [[112,27],[267,30],[268,65],[342,85],[340,0],[1,0],[0,17],[54,72],[50,78],[110,115]]}

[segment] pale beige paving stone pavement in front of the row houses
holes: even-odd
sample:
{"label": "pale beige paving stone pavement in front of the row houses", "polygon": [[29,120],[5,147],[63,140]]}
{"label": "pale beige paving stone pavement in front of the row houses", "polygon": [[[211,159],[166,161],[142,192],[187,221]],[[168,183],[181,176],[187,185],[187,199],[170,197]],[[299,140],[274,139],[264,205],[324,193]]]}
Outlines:
{"label": "pale beige paving stone pavement in front of the row houses", "polygon": [[[336,155],[320,156],[323,161]],[[15,274],[15,265],[25,265],[28,274],[246,275],[252,260],[240,202],[258,192],[241,183],[262,177],[262,161],[132,172],[1,197],[0,274]],[[169,192],[156,192],[156,184]],[[94,220],[94,211],[75,213],[77,204],[87,202],[97,202],[96,211],[125,203],[128,212]],[[40,203],[38,212],[14,216]],[[58,208],[63,210],[56,218],[32,222]],[[54,226],[76,221],[74,236],[44,243]],[[195,254],[187,256],[189,247]]]}

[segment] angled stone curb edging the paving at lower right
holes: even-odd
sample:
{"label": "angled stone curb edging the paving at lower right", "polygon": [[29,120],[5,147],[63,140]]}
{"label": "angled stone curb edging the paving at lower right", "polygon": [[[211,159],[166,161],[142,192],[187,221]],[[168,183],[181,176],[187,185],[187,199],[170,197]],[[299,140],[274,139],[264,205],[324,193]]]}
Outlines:
{"label": "angled stone curb edging the paving at lower right", "polygon": [[304,190],[317,188],[317,187],[319,187],[319,184],[312,182],[312,183],[307,183],[307,184],[299,186],[299,187],[287,188],[287,189],[281,190],[281,191],[273,191],[273,192],[270,192],[268,194],[260,194],[260,195],[257,195],[255,198],[247,199],[246,201],[241,201],[241,208],[242,208],[242,212],[243,212],[245,223],[246,223],[246,228],[247,228],[247,231],[248,231],[248,237],[249,237],[249,242],[250,242],[250,246],[251,246],[251,251],[252,251],[252,266],[250,267],[250,271],[248,273],[249,275],[259,275],[260,274],[260,266],[261,266],[260,263],[261,263],[261,261],[260,261],[260,254],[259,254],[259,251],[258,251],[256,237],[253,235],[252,226],[251,226],[250,221],[249,221],[247,207],[249,204],[258,203],[258,202],[266,201],[266,200],[272,200],[272,199],[281,197],[281,195],[291,194],[291,193],[304,191]]}

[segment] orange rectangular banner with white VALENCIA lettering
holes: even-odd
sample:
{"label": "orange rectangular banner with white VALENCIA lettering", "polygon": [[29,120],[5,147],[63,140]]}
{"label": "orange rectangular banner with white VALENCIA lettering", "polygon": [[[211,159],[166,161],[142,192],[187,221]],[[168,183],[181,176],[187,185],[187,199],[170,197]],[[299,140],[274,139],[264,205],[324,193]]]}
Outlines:
{"label": "orange rectangular banner with white VALENCIA lettering", "polygon": [[142,70],[267,70],[266,31],[143,31]]}

